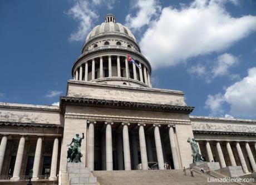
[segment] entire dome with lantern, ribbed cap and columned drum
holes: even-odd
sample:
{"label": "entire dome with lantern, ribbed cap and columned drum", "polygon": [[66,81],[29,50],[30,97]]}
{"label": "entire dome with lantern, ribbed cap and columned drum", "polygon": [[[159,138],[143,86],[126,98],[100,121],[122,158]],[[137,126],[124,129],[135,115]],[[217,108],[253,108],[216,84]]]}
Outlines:
{"label": "entire dome with lantern, ribbed cap and columned drum", "polygon": [[[127,58],[130,56],[130,59]],[[113,14],[88,33],[72,68],[74,80],[151,87],[151,66],[130,29]]]}

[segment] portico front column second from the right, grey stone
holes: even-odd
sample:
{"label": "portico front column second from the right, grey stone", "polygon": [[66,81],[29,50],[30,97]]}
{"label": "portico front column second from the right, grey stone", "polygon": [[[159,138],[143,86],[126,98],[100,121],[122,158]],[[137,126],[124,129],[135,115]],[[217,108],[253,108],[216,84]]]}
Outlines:
{"label": "portico front column second from the right, grey stone", "polygon": [[159,132],[159,127],[161,125],[153,125],[154,126],[154,135],[155,135],[155,145],[156,145],[156,155],[157,155],[157,163],[159,169],[164,168],[164,156],[163,156],[163,149],[161,145],[161,137]]}

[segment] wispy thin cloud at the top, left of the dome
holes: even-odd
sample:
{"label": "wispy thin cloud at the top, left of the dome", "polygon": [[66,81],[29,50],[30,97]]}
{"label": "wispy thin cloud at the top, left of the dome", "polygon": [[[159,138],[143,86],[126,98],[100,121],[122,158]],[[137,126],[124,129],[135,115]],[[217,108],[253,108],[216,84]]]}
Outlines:
{"label": "wispy thin cloud at the top, left of the dome", "polygon": [[[95,3],[97,2],[98,1],[95,1]],[[76,31],[70,35],[70,41],[85,40],[86,35],[92,29],[94,20],[99,17],[94,9],[90,2],[78,0],[75,2],[75,5],[67,11],[68,15],[80,22]]]}

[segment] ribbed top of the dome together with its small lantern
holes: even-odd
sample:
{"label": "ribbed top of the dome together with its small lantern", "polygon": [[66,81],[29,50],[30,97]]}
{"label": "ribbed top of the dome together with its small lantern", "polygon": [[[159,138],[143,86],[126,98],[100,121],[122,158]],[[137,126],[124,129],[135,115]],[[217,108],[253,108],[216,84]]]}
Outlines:
{"label": "ribbed top of the dome together with its small lantern", "polygon": [[136,42],[134,35],[131,33],[131,30],[120,23],[116,23],[115,16],[112,14],[107,14],[105,17],[105,22],[100,25],[96,25],[96,27],[92,29],[92,31],[86,37],[86,42],[92,38],[97,37],[98,35],[111,33],[130,37]]}

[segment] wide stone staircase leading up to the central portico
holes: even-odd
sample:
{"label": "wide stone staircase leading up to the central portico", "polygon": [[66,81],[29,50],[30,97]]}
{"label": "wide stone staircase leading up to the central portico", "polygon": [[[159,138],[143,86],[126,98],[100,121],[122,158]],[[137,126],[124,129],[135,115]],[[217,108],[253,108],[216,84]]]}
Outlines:
{"label": "wide stone staircase leading up to the central portico", "polygon": [[132,170],[132,171],[93,171],[93,176],[97,177],[97,181],[101,185],[195,185],[195,184],[237,184],[237,183],[217,183],[207,182],[207,174],[201,174],[194,171],[194,177],[190,177],[189,169],[186,170],[187,175],[183,175],[182,169],[170,170]]}

